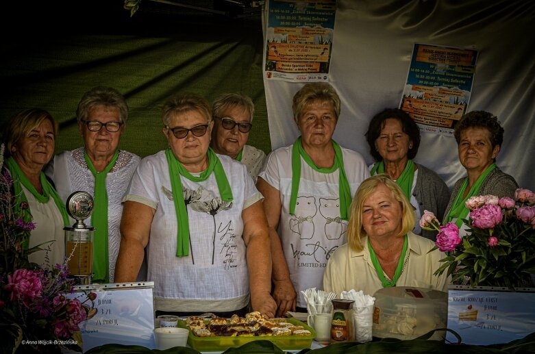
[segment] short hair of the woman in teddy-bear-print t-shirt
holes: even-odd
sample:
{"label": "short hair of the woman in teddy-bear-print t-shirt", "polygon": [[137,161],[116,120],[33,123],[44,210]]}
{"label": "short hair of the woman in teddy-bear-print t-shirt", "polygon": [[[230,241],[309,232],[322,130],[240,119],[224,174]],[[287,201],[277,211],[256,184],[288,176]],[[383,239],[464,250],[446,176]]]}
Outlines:
{"label": "short hair of the woman in teddy-bear-print t-shirt", "polygon": [[293,97],[294,121],[297,122],[303,111],[315,101],[330,103],[338,120],[340,116],[340,97],[336,90],[326,82],[310,82],[297,91]]}

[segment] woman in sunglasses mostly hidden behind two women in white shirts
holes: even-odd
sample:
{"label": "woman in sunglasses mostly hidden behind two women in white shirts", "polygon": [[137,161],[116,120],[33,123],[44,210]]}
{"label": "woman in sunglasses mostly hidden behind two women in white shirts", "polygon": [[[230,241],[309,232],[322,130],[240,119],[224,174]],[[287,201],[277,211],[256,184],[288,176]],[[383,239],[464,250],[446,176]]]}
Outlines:
{"label": "woman in sunglasses mostly hidden behind two women in white shirts", "polygon": [[216,153],[227,155],[247,167],[247,172],[256,183],[258,173],[264,165],[266,154],[256,147],[247,145],[249,131],[253,125],[253,101],[247,96],[227,93],[212,103],[214,129],[210,147]]}

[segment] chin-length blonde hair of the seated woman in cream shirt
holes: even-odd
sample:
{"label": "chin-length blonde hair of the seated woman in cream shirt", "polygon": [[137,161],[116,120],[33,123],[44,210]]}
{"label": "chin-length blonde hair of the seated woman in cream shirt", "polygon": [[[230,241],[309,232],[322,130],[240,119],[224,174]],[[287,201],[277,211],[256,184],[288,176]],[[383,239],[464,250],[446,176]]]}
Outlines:
{"label": "chin-length blonde hair of the seated woman in cream shirt", "polygon": [[377,190],[380,184],[384,184],[392,192],[394,199],[401,204],[401,231],[397,236],[403,236],[408,231],[414,229],[414,223],[416,223],[416,217],[413,212],[414,208],[396,182],[390,179],[385,173],[380,173],[379,175],[364,179],[351,202],[349,223],[347,225],[347,243],[353,251],[360,252],[364,249],[361,240],[367,235],[362,226],[362,206],[364,205],[364,201]]}

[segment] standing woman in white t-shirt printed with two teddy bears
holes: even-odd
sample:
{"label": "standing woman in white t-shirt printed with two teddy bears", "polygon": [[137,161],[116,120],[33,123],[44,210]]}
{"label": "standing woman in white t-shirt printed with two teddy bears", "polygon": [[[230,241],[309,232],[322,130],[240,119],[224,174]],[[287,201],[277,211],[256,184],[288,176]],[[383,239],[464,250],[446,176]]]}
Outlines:
{"label": "standing woman in white t-shirt printed with two teddy bears", "polygon": [[301,136],[270,153],[258,177],[269,223],[277,316],[306,312],[301,291],[321,288],[327,260],[347,242],[351,196],[370,175],[360,153],[332,140],[339,116],[340,97],[330,84],[303,86],[293,97]]}

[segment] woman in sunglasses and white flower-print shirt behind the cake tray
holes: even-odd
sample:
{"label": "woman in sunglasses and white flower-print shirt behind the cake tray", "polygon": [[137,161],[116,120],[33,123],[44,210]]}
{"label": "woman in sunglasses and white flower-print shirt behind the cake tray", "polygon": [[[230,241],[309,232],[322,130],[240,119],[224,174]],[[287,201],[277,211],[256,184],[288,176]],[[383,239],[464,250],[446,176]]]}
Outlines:
{"label": "woman in sunglasses and white flower-print shirt behind the cake tray", "polygon": [[116,281],[136,279],[147,247],[157,316],[243,316],[250,298],[273,317],[262,194],[244,165],[210,149],[206,99],[175,94],[162,121],[169,149],[141,160],[124,199]]}

